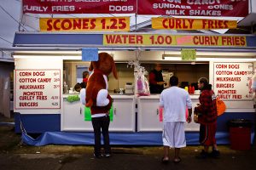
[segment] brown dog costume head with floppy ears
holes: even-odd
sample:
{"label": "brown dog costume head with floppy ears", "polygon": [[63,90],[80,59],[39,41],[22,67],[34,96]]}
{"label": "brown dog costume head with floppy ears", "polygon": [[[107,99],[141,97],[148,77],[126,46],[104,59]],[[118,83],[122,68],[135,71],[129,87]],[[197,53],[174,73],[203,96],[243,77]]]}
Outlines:
{"label": "brown dog costume head with floppy ears", "polygon": [[99,59],[97,61],[90,62],[89,71],[93,71],[94,69],[102,71],[102,73],[106,76],[113,72],[113,77],[115,77],[115,79],[118,79],[113,58],[108,53],[100,53]]}

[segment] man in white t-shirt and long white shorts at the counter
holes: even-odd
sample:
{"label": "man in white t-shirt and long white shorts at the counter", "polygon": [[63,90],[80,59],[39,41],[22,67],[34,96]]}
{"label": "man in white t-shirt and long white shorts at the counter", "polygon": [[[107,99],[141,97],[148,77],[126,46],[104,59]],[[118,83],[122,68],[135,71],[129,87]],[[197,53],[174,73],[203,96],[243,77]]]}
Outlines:
{"label": "man in white t-shirt and long white shorts at the counter", "polygon": [[[170,88],[165,89],[160,94],[160,107],[164,109],[163,119],[163,145],[164,157],[162,162],[169,161],[169,148],[175,150],[173,161],[181,161],[179,157],[180,149],[186,146],[185,122],[191,122],[192,101],[189,93],[183,88],[178,88],[178,78],[170,78]],[[189,109],[189,116],[186,120],[186,108]]]}

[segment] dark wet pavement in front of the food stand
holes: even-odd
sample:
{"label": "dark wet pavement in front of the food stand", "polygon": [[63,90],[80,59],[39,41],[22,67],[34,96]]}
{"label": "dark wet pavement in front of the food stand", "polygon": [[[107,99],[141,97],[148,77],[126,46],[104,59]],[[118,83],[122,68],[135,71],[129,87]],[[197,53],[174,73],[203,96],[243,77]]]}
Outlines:
{"label": "dark wet pavement in front of the food stand", "polygon": [[[1,117],[0,117],[1,118]],[[1,122],[1,119],[0,119]],[[2,120],[3,122],[3,120]],[[230,150],[230,145],[220,145],[218,159],[196,159],[202,147],[187,146],[181,150],[182,161],[160,162],[161,146],[112,146],[113,156],[97,159],[91,145],[31,146],[22,144],[14,127],[0,126],[0,170],[253,170],[256,168],[256,144],[251,150]],[[170,150],[170,158],[174,150]]]}

